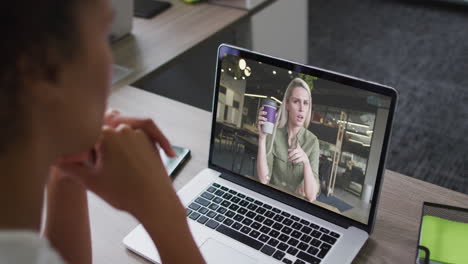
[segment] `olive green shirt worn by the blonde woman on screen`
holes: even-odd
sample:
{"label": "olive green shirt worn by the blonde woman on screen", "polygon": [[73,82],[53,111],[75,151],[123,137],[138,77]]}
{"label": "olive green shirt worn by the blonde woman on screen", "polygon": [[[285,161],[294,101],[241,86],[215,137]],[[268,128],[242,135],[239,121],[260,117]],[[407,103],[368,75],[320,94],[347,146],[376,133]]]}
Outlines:
{"label": "olive green shirt worn by the blonde woman on screen", "polygon": [[[312,168],[312,173],[319,185],[319,141],[317,137],[308,129],[301,127],[292,140],[292,146],[288,144],[288,129],[278,128],[276,130],[272,151],[268,153],[272,140],[272,135],[267,136],[267,164],[270,171],[270,184],[281,189],[296,193],[298,187],[304,187],[304,165],[302,162],[294,164],[288,161],[288,149],[295,148],[296,142],[299,142],[302,150],[307,154]],[[320,188],[319,188],[320,189]]]}

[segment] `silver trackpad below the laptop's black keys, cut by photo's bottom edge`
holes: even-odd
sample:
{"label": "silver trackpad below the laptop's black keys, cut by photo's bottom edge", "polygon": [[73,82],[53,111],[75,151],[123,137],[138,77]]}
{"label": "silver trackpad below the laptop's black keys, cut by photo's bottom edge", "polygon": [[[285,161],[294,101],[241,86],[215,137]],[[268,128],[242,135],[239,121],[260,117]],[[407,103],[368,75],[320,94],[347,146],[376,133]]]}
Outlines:
{"label": "silver trackpad below the laptop's black keys, cut by photo's bottom edge", "polygon": [[200,247],[201,253],[208,264],[255,264],[257,260],[242,254],[212,238],[208,238]]}

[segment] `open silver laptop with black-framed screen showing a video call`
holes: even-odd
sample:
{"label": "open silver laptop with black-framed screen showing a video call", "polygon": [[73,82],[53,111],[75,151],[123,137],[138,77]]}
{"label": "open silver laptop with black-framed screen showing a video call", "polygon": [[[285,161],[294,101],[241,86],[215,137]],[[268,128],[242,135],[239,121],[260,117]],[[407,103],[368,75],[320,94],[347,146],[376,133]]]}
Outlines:
{"label": "open silver laptop with black-framed screen showing a video call", "polygon": [[[351,263],[375,223],[397,92],[226,44],[216,67],[208,167],[178,192],[206,262]],[[294,164],[297,127],[290,148],[308,158]],[[123,243],[160,262],[141,225]]]}

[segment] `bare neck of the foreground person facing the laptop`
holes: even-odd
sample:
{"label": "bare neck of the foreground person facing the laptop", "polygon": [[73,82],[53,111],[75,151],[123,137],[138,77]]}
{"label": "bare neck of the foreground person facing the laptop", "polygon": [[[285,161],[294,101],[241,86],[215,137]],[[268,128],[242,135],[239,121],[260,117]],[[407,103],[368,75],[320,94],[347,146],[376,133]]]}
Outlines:
{"label": "bare neck of the foreground person facing the laptop", "polygon": [[41,149],[38,144],[17,144],[0,156],[0,229],[40,230],[51,164],[50,156]]}

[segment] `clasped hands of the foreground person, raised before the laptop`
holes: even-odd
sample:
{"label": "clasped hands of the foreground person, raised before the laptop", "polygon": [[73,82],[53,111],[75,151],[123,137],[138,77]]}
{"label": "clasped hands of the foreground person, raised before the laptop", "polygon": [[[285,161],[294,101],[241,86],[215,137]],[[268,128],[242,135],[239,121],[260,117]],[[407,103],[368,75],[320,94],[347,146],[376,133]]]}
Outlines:
{"label": "clasped hands of the foreground person, raised before the laptop", "polygon": [[149,204],[151,210],[157,208],[159,212],[183,211],[153,142],[145,132],[128,125],[103,128],[93,166],[64,162],[59,167],[107,203],[137,219]]}

